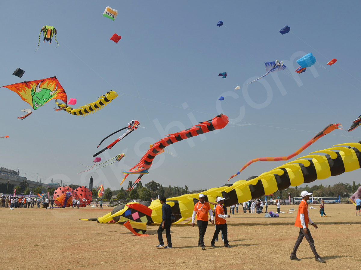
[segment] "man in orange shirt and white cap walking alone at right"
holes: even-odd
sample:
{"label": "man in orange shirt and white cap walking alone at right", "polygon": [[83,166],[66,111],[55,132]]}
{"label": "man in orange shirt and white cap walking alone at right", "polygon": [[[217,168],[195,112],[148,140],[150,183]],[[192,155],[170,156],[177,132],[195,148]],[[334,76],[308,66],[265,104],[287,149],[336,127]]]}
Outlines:
{"label": "man in orange shirt and white cap walking alone at right", "polygon": [[322,260],[321,257],[319,257],[314,241],[311,235],[310,230],[308,229],[308,224],[310,223],[315,229],[318,229],[317,225],[312,222],[312,220],[308,217],[308,204],[307,201],[310,198],[310,195],[312,193],[308,193],[306,190],[301,192],[302,201],[300,202],[300,205],[298,207],[298,212],[296,216],[296,222],[295,226],[300,228],[300,232],[298,234],[298,238],[296,240],[295,247],[293,247],[293,251],[291,252],[290,259],[295,261],[301,261],[296,256],[296,252],[298,247],[300,246],[302,239],[305,237],[308,243],[310,244],[311,250],[313,252],[313,255],[315,256],[316,261],[318,262],[326,262],[325,260]]}

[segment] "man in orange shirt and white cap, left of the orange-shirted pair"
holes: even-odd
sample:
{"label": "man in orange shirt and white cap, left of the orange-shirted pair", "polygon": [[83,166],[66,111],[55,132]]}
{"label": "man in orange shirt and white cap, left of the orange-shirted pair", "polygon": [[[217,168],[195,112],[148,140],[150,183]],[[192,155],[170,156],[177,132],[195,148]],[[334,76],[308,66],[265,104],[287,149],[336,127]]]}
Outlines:
{"label": "man in orange shirt and white cap, left of the orange-shirted pair", "polygon": [[[198,246],[202,248],[202,250],[205,250],[204,245],[204,234],[207,230],[208,226],[208,213],[210,215],[210,220],[213,225],[213,212],[210,209],[209,203],[205,201],[204,195],[202,193],[199,194],[199,202],[197,202],[193,209],[193,215],[192,215],[192,227],[194,227],[194,220],[197,215],[197,225],[199,230],[199,240],[198,240]],[[219,232],[218,232],[219,233]]]}

